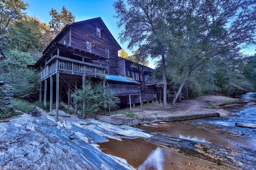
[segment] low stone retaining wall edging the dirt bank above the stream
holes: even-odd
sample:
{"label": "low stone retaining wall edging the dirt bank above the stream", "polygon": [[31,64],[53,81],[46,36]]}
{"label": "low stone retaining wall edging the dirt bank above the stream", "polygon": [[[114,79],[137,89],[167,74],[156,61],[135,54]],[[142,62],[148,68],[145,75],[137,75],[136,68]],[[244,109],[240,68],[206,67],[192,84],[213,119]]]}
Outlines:
{"label": "low stone retaining wall edging the dirt bank above the stream", "polygon": [[212,116],[220,116],[220,114],[215,112],[215,113],[207,113],[207,114],[199,113],[194,115],[169,116],[169,117],[146,117],[146,118],[140,118],[140,119],[97,115],[97,119],[100,121],[104,121],[106,123],[114,124],[114,125],[134,126],[139,124],[142,125],[145,123],[155,123],[160,121],[181,121],[181,120],[197,119],[197,118],[212,117]]}

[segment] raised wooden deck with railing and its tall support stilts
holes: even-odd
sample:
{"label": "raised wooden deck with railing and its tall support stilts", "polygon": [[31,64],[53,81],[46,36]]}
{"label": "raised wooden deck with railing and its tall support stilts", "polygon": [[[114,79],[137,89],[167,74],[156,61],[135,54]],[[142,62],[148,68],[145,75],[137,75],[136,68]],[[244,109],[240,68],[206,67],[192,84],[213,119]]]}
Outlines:
{"label": "raised wooden deck with railing and its tall support stilts", "polygon": [[[68,96],[68,105],[71,104],[71,94],[78,84],[82,84],[84,88],[85,77],[98,78],[98,74],[105,73],[105,67],[98,66],[91,63],[86,63],[82,61],[77,61],[74,59],[69,59],[66,57],[60,57],[54,55],[46,65],[39,71],[40,75],[40,102],[42,102],[42,83],[44,82],[44,109],[46,109],[46,96],[49,93],[47,90],[50,86],[50,112],[52,112],[53,107],[53,93],[54,85],[56,87],[56,121],[58,121],[58,109],[59,101],[62,100],[62,89],[64,89],[64,94]],[[50,79],[50,85],[48,81]],[[76,113],[77,105],[75,104]]]}

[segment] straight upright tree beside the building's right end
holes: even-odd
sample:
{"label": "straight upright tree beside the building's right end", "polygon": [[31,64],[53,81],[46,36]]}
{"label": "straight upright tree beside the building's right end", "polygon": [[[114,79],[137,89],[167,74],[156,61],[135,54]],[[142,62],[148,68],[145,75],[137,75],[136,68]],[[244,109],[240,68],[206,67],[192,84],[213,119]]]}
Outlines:
{"label": "straight upright tree beside the building's right end", "polygon": [[[178,1],[178,0],[177,0]],[[168,25],[166,19],[172,13],[176,1],[165,0],[122,0],[114,2],[121,42],[129,41],[128,48],[139,46],[143,57],[158,57],[162,59],[162,77],[164,87],[164,107],[167,106],[167,80],[166,80],[166,51],[172,36],[172,24]]]}

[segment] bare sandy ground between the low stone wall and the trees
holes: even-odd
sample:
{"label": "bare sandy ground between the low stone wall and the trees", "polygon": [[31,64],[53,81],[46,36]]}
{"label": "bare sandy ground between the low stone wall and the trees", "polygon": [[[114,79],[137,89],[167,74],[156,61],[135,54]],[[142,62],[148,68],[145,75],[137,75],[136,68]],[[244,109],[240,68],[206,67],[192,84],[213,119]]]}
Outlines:
{"label": "bare sandy ground between the low stone wall and the trees", "polygon": [[[182,116],[182,115],[194,115],[198,113],[220,113],[220,116],[226,116],[230,112],[219,107],[221,104],[232,104],[237,101],[235,98],[228,98],[226,96],[201,96],[194,100],[184,100],[181,103],[176,103],[176,106],[168,105],[167,108],[163,108],[162,104],[143,104],[140,106],[132,107],[132,112],[138,115],[138,118],[142,117],[169,117],[169,116]],[[122,111],[114,112],[113,116],[125,117],[125,113],[129,113],[130,108],[122,109]],[[119,113],[119,114],[118,114]]]}

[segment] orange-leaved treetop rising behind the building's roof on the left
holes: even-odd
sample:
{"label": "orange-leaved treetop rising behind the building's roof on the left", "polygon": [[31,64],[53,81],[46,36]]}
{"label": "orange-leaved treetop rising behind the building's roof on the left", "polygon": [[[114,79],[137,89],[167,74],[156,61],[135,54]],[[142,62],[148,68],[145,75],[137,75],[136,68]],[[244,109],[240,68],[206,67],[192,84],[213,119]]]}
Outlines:
{"label": "orange-leaved treetop rising behind the building's roof on the left", "polygon": [[49,22],[50,28],[54,36],[58,35],[60,31],[69,23],[73,23],[75,21],[75,16],[72,15],[70,11],[68,11],[65,6],[62,7],[60,13],[57,10],[53,9],[50,11],[50,16],[52,16],[52,20]]}

